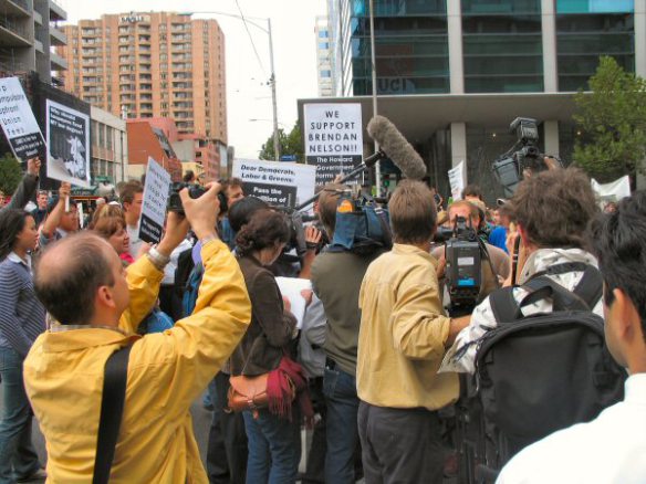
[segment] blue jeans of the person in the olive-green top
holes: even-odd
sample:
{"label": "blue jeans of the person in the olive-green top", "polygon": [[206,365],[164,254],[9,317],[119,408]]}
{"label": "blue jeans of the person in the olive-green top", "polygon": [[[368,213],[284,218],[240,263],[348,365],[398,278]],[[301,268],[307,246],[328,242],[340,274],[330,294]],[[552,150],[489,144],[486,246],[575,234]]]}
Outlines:
{"label": "blue jeans of the person in the olive-green top", "polygon": [[323,393],[327,407],[325,482],[354,484],[354,453],[358,442],[356,378],[336,367],[325,368]]}

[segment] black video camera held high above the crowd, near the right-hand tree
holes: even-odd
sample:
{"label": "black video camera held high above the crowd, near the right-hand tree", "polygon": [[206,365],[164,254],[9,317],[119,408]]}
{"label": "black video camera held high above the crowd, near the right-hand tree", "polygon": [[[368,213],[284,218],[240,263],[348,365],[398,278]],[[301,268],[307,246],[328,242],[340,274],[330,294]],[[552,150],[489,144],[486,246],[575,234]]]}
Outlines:
{"label": "black video camera held high above the crowd, near the right-hand tree", "polygon": [[504,197],[512,197],[525,170],[544,171],[549,167],[539,149],[539,127],[535,119],[517,117],[509,125],[510,133],[515,133],[518,140],[492,164],[493,175],[504,190]]}

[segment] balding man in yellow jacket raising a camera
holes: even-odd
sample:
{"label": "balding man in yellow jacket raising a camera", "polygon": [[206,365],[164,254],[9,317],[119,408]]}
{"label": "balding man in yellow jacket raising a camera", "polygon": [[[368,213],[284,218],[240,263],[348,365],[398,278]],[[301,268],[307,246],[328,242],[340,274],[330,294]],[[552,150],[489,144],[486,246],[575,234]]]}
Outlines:
{"label": "balding man in yellow jacket raising a camera", "polygon": [[[24,382],[45,436],[48,481],[92,481],[104,366],[132,344],[123,420],[111,483],[207,483],[192,434],[191,402],[247,330],[251,305],[238,263],[218,240],[218,186],[170,213],[159,245],[124,273],[114,250],[83,233],[44,252],[39,298],[61,325],[41,335]],[[173,329],[134,334],[157,298],[164,265],[188,223],[202,242],[205,275],[195,312]]]}

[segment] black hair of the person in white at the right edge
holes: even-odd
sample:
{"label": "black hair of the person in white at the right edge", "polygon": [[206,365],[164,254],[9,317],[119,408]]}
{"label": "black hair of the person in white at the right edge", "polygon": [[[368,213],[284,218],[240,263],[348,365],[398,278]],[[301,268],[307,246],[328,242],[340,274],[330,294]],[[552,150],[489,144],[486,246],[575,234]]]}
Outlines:
{"label": "black hair of the person in white at the right edge", "polygon": [[614,290],[622,290],[639,313],[646,343],[646,191],[623,199],[614,213],[597,214],[588,239],[604,280],[605,304],[613,303]]}

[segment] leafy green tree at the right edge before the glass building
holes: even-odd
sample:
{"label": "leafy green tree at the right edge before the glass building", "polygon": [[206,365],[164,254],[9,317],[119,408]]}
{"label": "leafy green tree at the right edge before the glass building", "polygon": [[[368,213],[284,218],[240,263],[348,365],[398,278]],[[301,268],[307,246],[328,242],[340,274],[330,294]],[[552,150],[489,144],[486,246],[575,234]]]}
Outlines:
{"label": "leafy green tree at the right edge before the glass building", "polygon": [[602,56],[590,78],[590,91],[574,101],[574,120],[582,139],[574,162],[601,182],[644,172],[646,158],[646,81],[624,71],[613,57]]}

